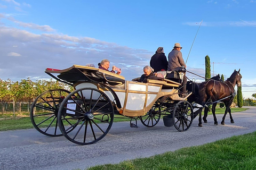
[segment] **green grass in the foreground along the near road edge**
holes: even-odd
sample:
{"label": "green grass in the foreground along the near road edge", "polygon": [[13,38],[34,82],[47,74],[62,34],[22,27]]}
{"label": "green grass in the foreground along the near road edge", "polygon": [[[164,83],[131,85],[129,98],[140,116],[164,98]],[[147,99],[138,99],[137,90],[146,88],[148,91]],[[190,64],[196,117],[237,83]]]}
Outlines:
{"label": "green grass in the foreground along the near road edge", "polygon": [[125,161],[87,168],[107,169],[255,169],[256,132],[207,143],[202,146],[182,148],[149,158]]}

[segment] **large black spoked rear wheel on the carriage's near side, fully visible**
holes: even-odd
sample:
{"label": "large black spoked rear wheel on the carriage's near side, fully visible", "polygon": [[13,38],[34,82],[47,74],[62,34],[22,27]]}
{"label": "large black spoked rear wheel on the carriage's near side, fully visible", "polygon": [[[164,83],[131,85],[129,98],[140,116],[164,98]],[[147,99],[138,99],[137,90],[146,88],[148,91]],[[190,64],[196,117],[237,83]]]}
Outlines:
{"label": "large black spoked rear wheel on the carriage's near side, fully visible", "polygon": [[[58,122],[63,135],[79,145],[101,140],[111,128],[114,107],[108,96],[94,88],[71,92],[61,103]],[[64,124],[66,121],[72,124]],[[68,131],[74,129],[70,133]]]}

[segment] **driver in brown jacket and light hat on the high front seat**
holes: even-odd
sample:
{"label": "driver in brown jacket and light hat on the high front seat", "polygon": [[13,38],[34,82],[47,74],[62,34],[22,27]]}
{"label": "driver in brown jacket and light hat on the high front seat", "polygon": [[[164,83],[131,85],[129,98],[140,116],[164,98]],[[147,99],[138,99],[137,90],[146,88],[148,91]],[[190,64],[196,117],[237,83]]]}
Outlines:
{"label": "driver in brown jacket and light hat on the high front seat", "polygon": [[[175,43],[172,51],[168,55],[168,69],[167,71],[179,71],[181,67],[187,67],[185,64],[181,50],[180,43]],[[187,78],[186,78],[186,72],[184,73],[183,82],[182,82],[182,97],[187,96],[186,92],[186,84],[187,84]]]}

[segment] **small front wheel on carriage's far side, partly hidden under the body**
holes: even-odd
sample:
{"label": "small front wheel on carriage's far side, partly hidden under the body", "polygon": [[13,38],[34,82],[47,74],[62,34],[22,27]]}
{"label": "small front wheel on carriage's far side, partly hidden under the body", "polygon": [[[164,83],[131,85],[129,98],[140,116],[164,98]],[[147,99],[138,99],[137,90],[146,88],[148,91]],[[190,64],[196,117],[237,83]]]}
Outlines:
{"label": "small front wheel on carriage's far side, partly hidden under the body", "polygon": [[161,108],[159,103],[156,102],[146,115],[139,116],[141,123],[147,127],[155,126],[161,118],[161,113],[164,112]]}

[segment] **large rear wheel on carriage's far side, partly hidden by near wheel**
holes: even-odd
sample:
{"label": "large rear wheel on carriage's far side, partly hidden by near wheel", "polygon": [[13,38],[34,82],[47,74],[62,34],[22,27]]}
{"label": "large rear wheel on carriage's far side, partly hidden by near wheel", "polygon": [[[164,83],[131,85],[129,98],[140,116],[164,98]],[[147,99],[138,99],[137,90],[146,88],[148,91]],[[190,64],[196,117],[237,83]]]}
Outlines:
{"label": "large rear wheel on carriage's far side, partly hidden by near wheel", "polygon": [[62,135],[57,115],[61,101],[69,93],[64,89],[47,90],[35,99],[30,109],[30,119],[37,131],[50,137]]}

